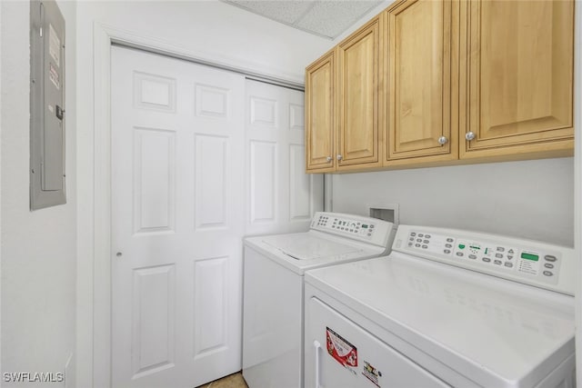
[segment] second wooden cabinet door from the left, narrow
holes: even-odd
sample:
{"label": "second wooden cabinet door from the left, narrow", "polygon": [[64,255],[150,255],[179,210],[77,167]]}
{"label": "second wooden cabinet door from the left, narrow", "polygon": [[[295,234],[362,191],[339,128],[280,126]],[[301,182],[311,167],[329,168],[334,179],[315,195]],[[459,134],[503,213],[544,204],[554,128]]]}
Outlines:
{"label": "second wooden cabinet door from the left, narrow", "polygon": [[378,132],[380,18],[338,45],[338,169],[381,164]]}

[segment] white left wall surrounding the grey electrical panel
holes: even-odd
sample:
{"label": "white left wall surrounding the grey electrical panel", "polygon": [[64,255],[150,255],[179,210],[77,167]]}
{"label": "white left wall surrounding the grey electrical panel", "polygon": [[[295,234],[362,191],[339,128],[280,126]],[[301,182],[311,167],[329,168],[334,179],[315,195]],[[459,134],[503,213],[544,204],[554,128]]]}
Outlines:
{"label": "white left wall surrounding the grey electrical panel", "polygon": [[[62,373],[75,350],[75,3],[59,6],[66,20],[67,204],[31,213],[30,8],[25,1],[0,2],[3,373]],[[3,379],[2,386],[10,384]]]}

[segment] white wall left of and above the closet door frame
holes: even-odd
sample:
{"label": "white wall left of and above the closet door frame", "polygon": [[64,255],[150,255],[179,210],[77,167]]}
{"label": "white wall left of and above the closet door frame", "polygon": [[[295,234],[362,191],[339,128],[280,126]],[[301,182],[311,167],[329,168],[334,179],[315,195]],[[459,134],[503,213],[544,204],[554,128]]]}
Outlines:
{"label": "white wall left of and above the closet door frame", "polygon": [[[102,126],[95,127],[95,120],[104,114],[95,113],[95,93],[99,95],[95,85],[100,87],[104,82],[104,75],[94,74],[94,65],[100,64],[100,58],[94,55],[95,31],[104,31],[104,28],[121,31],[120,35],[133,36],[135,41],[164,47],[167,51],[300,84],[306,65],[321,55],[331,41],[217,0],[83,1],[77,4],[77,26],[77,385],[85,387],[92,385],[94,376],[97,386],[106,384],[109,368],[106,357],[93,359],[94,351],[103,354],[106,350],[106,343],[99,341],[94,347],[93,333],[107,330],[103,319],[106,313],[98,310],[94,314],[94,306],[108,303],[107,295],[104,300],[102,290],[97,290],[107,284],[94,283],[94,275],[102,273],[106,266],[103,256],[94,255],[94,248],[103,248],[95,246],[95,234],[101,236],[100,231],[106,229],[94,214],[95,205],[99,208],[101,204],[99,199],[95,203],[94,194],[98,189],[95,179],[98,181],[101,177],[95,177],[95,171],[103,172],[107,168],[103,160],[107,150],[101,148],[106,145],[95,142],[95,136],[98,138],[104,133]],[[95,165],[95,160],[103,164]]]}

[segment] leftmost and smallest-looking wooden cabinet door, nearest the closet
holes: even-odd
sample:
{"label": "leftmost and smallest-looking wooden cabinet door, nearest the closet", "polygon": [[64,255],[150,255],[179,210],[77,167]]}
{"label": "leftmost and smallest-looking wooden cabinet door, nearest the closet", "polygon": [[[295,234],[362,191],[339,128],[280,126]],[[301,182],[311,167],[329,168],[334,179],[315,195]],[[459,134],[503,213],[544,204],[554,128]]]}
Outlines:
{"label": "leftmost and smallest-looking wooden cabinet door, nearest the closet", "polygon": [[336,168],[334,114],[336,67],[334,52],[306,69],[306,170],[327,172]]}

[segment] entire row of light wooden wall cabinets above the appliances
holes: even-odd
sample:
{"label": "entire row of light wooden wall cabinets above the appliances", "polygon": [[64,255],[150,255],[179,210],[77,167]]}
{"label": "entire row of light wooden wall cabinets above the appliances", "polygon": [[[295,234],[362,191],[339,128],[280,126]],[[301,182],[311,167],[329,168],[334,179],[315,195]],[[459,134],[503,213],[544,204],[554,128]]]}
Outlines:
{"label": "entire row of light wooden wall cabinets above the appliances", "polygon": [[574,1],[402,0],[306,71],[307,172],[569,156]]}

